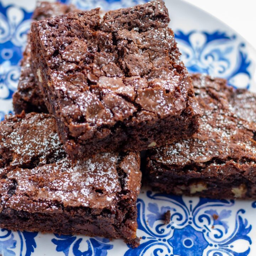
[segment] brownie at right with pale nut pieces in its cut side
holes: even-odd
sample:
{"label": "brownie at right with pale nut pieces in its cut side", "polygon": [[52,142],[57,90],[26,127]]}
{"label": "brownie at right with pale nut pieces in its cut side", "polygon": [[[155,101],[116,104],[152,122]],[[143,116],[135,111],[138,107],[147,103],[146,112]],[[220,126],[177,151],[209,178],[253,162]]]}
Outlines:
{"label": "brownie at right with pale nut pieces in its cut side", "polygon": [[[256,95],[239,93],[226,80],[206,75],[192,75],[192,81],[203,111],[199,132],[149,152],[148,184],[174,194],[256,198],[256,123],[242,114],[250,104],[255,108]],[[231,100],[246,95],[251,101],[245,105]]]}

